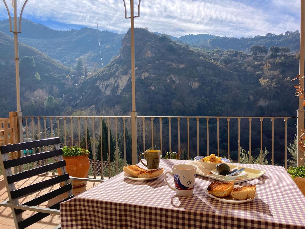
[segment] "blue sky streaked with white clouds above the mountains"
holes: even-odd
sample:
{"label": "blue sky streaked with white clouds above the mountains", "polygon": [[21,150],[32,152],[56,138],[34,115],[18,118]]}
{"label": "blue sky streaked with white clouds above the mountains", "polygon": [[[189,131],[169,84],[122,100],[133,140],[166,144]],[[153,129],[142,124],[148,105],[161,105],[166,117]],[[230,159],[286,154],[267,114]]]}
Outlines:
{"label": "blue sky streaked with white clouds above the mountains", "polygon": [[[6,1],[11,6],[11,1]],[[8,17],[1,2],[0,20]],[[21,8],[24,0],[17,2]],[[126,0],[127,9],[129,2]],[[124,18],[123,0],[29,0],[23,17],[58,30],[78,29],[86,23],[92,28],[98,23],[100,30],[117,33],[130,27]],[[285,27],[300,30],[300,0],[142,0],[135,26],[178,37],[280,34],[285,33]]]}

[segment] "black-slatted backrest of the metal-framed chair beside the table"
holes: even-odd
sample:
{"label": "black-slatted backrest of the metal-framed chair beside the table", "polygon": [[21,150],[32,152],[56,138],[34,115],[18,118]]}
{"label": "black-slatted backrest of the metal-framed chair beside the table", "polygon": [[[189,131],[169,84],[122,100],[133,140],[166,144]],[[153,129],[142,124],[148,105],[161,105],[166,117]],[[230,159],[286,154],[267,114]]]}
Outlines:
{"label": "black-slatted backrest of the metal-framed chair beside the table", "polygon": [[[41,203],[48,201],[56,196],[59,196],[60,194],[63,194],[67,192],[68,197],[60,202],[57,202],[56,204],[49,206],[49,209],[60,209],[60,203],[63,201],[66,201],[68,199],[71,199],[74,197],[72,194],[72,185],[68,183],[69,180],[69,174],[66,173],[66,161],[63,159],[63,150],[60,148],[60,140],[59,137],[54,138],[48,138],[38,141],[30,141],[30,142],[24,142],[24,143],[18,143],[18,144],[11,144],[11,145],[5,145],[0,146],[0,153],[1,153],[1,166],[2,166],[2,173],[6,182],[6,189],[8,192],[9,200],[13,204],[20,204],[19,199],[23,198],[25,196],[28,196],[32,193],[35,193],[37,191],[40,191],[44,188],[53,186],[55,184],[58,184],[60,182],[64,182],[65,185],[62,187],[59,187],[56,190],[50,191],[46,194],[43,194],[37,198],[34,198],[28,202],[22,203],[23,205],[29,205],[29,206],[37,206]],[[15,158],[15,159],[9,159],[8,153],[12,153],[15,151],[23,151],[33,148],[39,148],[39,147],[45,147],[54,145],[54,150],[52,151],[46,151],[42,153],[32,154],[28,156],[24,156],[21,158]],[[47,158],[52,157],[58,157],[57,162],[53,162],[50,164],[46,164],[39,167],[34,167],[33,169],[21,172],[21,173],[12,173],[12,167],[19,166],[19,165],[25,165],[27,163],[31,162],[37,162],[40,160],[46,160]],[[28,179],[32,176],[37,176],[42,173],[46,173],[48,171],[54,170],[54,169],[61,169],[62,175],[52,177],[48,180],[43,180],[35,184],[30,184],[26,187],[20,187],[16,189],[15,182],[18,182],[23,179]],[[20,209],[13,209],[13,217],[15,220],[15,224],[17,228],[26,228],[39,220],[43,219],[44,217],[50,215],[48,213],[36,213],[26,219],[23,219],[22,212],[25,210]]]}

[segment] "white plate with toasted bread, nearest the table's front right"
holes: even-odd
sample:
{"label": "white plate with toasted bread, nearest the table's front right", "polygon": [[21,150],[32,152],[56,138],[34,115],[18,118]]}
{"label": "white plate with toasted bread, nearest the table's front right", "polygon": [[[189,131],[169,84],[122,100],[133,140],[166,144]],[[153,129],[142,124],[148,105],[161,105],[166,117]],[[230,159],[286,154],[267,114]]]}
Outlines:
{"label": "white plate with toasted bread, nearest the table's front right", "polygon": [[256,185],[239,186],[231,182],[212,182],[205,193],[213,199],[227,203],[244,203],[258,197]]}

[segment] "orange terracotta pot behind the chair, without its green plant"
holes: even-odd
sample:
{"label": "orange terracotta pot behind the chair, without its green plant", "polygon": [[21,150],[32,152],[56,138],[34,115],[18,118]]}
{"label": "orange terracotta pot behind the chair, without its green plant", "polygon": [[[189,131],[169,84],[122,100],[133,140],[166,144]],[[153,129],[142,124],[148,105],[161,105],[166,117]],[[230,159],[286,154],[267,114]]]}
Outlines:
{"label": "orange terracotta pot behind the chair, without its green plant", "polygon": [[[66,170],[70,176],[86,178],[90,168],[89,156],[63,157],[66,160]],[[59,175],[61,170],[57,169]],[[73,180],[73,187],[81,187],[85,185],[85,181]],[[60,184],[61,186],[63,184]]]}

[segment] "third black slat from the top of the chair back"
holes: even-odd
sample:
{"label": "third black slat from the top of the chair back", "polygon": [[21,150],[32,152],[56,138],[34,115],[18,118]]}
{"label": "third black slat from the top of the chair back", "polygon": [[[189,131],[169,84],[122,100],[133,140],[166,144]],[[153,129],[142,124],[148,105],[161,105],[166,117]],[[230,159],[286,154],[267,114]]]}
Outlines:
{"label": "third black slat from the top of the chair back", "polygon": [[63,167],[63,166],[66,166],[66,161],[65,160],[50,163],[50,164],[47,164],[47,165],[37,167],[35,169],[30,169],[30,170],[27,170],[27,171],[24,171],[24,172],[21,172],[21,173],[16,173],[16,174],[13,174],[11,176],[7,176],[7,182],[9,184],[12,184],[14,182],[30,178],[32,176],[36,176],[36,175],[41,174],[41,173],[45,173],[45,172],[51,171],[53,169],[58,169],[58,168]]}

